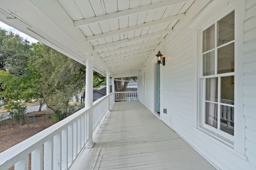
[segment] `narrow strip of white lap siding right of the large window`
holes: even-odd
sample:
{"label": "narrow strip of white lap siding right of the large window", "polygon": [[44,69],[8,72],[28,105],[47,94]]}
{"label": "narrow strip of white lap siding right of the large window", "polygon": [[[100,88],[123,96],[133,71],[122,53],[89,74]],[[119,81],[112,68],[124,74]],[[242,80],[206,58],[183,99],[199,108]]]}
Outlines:
{"label": "narrow strip of white lap siding right of the large window", "polygon": [[246,156],[256,166],[256,1],[246,0],[244,22],[244,117]]}

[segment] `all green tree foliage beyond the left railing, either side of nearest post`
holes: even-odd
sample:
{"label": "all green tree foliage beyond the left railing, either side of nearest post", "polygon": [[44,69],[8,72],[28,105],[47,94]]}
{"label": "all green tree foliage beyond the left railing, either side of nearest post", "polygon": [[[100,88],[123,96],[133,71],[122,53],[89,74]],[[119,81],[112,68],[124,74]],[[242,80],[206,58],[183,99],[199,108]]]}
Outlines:
{"label": "all green tree foliage beyond the left railing, either side of nearest post", "polygon": [[[40,108],[47,104],[65,118],[70,98],[85,85],[85,74],[86,66],[62,53],[0,29],[0,98],[9,104],[16,101],[18,108],[17,101],[38,100]],[[94,72],[94,87],[101,84],[106,78]]]}

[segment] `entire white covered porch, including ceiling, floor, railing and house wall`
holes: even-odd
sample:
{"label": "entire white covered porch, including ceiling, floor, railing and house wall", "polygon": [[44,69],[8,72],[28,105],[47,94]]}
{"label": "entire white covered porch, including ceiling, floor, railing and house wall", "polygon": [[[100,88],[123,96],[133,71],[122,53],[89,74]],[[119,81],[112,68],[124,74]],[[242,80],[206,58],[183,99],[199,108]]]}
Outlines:
{"label": "entire white covered porch, including ceiling, floor, railing and house wall", "polygon": [[[0,153],[0,170],[255,169],[255,11],[255,0],[2,1],[0,21],[86,65],[87,102]],[[96,102],[93,71],[107,78]],[[114,103],[110,78],[132,76],[139,102]]]}

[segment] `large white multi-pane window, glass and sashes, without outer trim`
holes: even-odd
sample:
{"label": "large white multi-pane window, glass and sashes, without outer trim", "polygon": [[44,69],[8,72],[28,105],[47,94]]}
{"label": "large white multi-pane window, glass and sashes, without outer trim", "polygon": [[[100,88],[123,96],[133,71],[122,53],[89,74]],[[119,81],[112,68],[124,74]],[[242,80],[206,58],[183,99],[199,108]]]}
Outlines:
{"label": "large white multi-pane window, glass and sashes, without outer trim", "polygon": [[234,141],[234,11],[200,35],[202,126]]}

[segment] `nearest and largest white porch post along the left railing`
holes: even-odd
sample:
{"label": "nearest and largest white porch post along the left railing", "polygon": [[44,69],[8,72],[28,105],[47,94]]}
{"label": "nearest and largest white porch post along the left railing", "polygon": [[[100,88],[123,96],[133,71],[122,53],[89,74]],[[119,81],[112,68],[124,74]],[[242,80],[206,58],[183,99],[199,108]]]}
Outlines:
{"label": "nearest and largest white porch post along the left railing", "polygon": [[86,143],[86,148],[92,148],[94,142],[92,141],[93,132],[93,60],[86,59],[86,82],[85,82],[85,107],[90,107],[89,111],[89,138]]}

